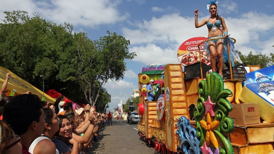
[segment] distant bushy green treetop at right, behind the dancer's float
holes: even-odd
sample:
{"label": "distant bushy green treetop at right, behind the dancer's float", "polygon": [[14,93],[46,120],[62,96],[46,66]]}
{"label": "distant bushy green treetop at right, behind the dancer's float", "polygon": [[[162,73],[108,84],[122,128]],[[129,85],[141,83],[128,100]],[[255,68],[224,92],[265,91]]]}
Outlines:
{"label": "distant bushy green treetop at right, behind the dancer's float", "polygon": [[241,52],[238,51],[238,54],[241,60],[246,63],[246,65],[260,65],[261,68],[265,68],[269,66],[269,62],[271,61],[271,58],[269,58],[265,54],[262,54],[261,52],[260,54],[253,55],[252,51],[250,51],[249,54],[246,56],[242,55]]}

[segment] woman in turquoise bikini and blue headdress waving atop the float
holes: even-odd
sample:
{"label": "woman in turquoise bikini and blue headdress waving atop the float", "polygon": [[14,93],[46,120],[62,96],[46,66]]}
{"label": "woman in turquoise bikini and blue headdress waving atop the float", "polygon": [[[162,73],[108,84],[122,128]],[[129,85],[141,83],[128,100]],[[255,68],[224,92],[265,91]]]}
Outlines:
{"label": "woman in turquoise bikini and blue headdress waving atop the float", "polygon": [[[208,36],[207,36],[208,39],[223,37],[222,32],[219,29],[221,26],[223,26],[223,30],[225,31],[224,33],[225,37],[229,36],[227,35],[227,27],[225,25],[225,20],[223,19],[223,17],[219,16],[217,13],[218,6],[219,6],[219,3],[216,1],[211,1],[210,3],[208,3],[207,9],[209,9],[211,17],[209,17],[208,19],[204,19],[201,23],[198,23],[198,13],[199,13],[198,9],[194,11],[195,27],[199,28],[206,25],[208,29]],[[215,72],[216,56],[217,56],[218,62],[219,62],[219,74],[223,76],[223,40],[216,39],[216,40],[208,41],[205,43],[205,48],[206,48],[207,54],[211,56],[210,63],[211,63],[212,72]]]}

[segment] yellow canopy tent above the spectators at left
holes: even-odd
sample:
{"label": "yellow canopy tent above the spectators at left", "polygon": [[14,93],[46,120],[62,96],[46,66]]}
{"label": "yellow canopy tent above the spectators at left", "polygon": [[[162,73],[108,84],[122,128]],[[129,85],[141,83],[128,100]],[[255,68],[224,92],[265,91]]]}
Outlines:
{"label": "yellow canopy tent above the spectators at left", "polygon": [[[35,86],[29,84],[27,81],[23,80],[22,78],[20,78],[19,76],[11,72],[10,70],[0,66],[0,84],[1,85],[5,81],[6,74],[9,72],[11,73],[11,78],[9,79],[9,82],[7,85],[7,91],[8,91],[6,94],[7,96],[9,96],[11,91],[14,89],[16,90],[14,96],[31,91],[32,94],[37,95],[39,98],[43,97],[43,92],[41,90],[35,88]],[[55,102],[55,99],[53,99],[47,94],[44,94],[44,98],[45,98],[45,101],[49,101],[51,104],[54,104]]]}

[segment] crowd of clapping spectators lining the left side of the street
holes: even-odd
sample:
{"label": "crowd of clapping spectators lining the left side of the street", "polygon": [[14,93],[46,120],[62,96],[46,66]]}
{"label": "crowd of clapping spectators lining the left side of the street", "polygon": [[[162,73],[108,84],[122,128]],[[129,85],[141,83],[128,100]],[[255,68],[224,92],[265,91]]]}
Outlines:
{"label": "crowd of clapping spectators lining the left side of the street", "polygon": [[0,90],[0,153],[84,154],[97,141],[106,115],[95,106],[74,108],[61,95],[54,105],[30,92],[5,96]]}

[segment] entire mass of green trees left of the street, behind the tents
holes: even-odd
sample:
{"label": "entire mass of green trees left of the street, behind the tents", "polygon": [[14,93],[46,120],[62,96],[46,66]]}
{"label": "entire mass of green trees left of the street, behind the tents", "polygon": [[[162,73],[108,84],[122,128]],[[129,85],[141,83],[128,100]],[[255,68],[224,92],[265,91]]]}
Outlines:
{"label": "entire mass of green trees left of the street, behind the tents", "polygon": [[0,65],[35,87],[55,89],[75,102],[96,104],[104,110],[110,94],[102,86],[123,79],[130,41],[107,31],[99,40],[72,32],[68,23],[46,21],[38,13],[4,12],[0,23]]}

